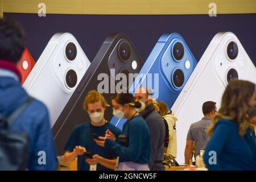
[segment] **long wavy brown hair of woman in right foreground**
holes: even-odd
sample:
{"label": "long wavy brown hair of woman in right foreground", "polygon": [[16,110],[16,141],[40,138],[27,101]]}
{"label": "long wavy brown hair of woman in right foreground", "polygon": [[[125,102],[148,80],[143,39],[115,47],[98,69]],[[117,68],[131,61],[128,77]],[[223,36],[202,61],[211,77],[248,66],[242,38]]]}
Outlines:
{"label": "long wavy brown hair of woman in right foreground", "polygon": [[253,125],[248,117],[248,101],[255,92],[255,84],[250,81],[232,80],[224,91],[221,107],[214,116],[212,125],[208,129],[208,134],[212,135],[214,126],[220,119],[229,119],[239,125],[239,135],[245,135],[246,130]]}

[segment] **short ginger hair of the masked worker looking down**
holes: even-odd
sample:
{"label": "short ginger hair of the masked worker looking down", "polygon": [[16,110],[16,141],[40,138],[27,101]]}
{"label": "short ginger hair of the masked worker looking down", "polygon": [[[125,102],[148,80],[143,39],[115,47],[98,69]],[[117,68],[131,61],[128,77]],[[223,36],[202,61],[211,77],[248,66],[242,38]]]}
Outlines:
{"label": "short ginger hair of the masked worker looking down", "polygon": [[84,100],[84,110],[88,110],[88,104],[93,104],[94,102],[101,101],[102,107],[106,108],[108,102],[106,102],[105,98],[102,94],[98,93],[96,90],[91,90]]}

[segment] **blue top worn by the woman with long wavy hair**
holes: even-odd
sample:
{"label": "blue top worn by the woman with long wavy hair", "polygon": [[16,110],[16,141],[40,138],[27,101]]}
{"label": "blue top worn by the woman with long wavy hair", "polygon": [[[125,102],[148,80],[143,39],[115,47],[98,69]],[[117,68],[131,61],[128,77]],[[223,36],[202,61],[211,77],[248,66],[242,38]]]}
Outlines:
{"label": "blue top worn by the woman with long wavy hair", "polygon": [[[216,164],[209,164],[216,152]],[[209,170],[256,170],[256,143],[254,131],[246,130],[239,135],[239,126],[228,119],[220,119],[214,127],[212,137],[205,147],[204,162]]]}

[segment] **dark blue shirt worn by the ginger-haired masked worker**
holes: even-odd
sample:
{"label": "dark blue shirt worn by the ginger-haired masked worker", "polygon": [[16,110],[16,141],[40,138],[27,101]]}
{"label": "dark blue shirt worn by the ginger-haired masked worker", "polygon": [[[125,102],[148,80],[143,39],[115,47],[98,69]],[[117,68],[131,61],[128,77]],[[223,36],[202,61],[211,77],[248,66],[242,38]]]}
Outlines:
{"label": "dark blue shirt worn by the ginger-haired masked worker", "polygon": [[[101,137],[105,137],[106,130],[112,131],[112,133],[118,137],[121,134],[121,130],[112,125],[111,123],[106,123],[103,126],[93,126],[90,122],[85,122],[81,125],[75,127],[72,131],[71,136],[68,139],[68,142],[65,146],[66,151],[72,152],[76,146],[82,146],[86,148],[86,151],[91,152],[93,155],[98,154],[106,159],[114,159],[116,156],[114,155],[113,150],[110,148],[100,147],[96,142],[94,142],[93,138],[90,134],[95,133]],[[84,156],[77,156],[77,170],[79,171],[89,171],[90,166],[86,163]],[[101,170],[111,170],[102,166],[101,164],[97,164],[97,171]]]}

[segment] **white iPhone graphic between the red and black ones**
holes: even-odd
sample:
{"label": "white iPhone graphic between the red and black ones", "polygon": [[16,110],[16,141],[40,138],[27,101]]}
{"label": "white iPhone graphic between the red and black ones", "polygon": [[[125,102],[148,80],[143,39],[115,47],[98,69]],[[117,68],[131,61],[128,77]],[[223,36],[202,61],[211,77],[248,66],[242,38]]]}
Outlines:
{"label": "white iPhone graphic between the red and black ones", "polygon": [[57,33],[49,40],[23,88],[46,104],[51,127],[89,65],[90,61],[73,35]]}

